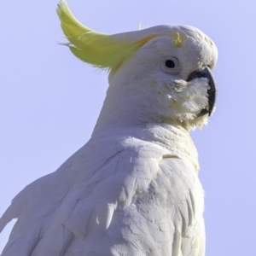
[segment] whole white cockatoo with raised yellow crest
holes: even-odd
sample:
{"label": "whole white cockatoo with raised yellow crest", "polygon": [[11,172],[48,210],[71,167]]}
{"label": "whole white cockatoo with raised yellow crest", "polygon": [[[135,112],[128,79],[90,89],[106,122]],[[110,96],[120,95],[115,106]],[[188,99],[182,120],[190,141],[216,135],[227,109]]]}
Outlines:
{"label": "whole white cockatoo with raised yellow crest", "polygon": [[217,48],[192,26],[106,35],[57,13],[67,46],[108,69],[90,141],[23,189],[2,256],[203,256],[204,191],[189,131],[214,109]]}

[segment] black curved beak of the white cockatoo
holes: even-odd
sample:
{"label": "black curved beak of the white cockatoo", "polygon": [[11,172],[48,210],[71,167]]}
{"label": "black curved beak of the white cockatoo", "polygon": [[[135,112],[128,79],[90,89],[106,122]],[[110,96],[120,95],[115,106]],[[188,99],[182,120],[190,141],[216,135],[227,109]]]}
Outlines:
{"label": "black curved beak of the white cockatoo", "polygon": [[198,114],[198,116],[202,116],[206,113],[210,116],[214,107],[214,104],[216,102],[216,96],[217,96],[217,84],[215,82],[215,79],[213,77],[212,71],[209,67],[206,67],[202,71],[196,71],[189,74],[188,82],[193,79],[201,79],[206,78],[208,79],[208,84],[210,86],[210,89],[207,90],[208,93],[208,105],[209,109],[202,109],[201,113]]}

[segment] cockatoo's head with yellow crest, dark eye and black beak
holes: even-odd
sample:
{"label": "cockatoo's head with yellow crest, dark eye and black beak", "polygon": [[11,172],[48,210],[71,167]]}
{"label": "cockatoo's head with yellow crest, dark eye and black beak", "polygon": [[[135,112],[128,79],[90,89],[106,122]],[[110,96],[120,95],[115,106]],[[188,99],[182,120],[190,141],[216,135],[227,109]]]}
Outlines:
{"label": "cockatoo's head with yellow crest, dark eye and black beak", "polygon": [[73,54],[109,71],[102,123],[177,122],[187,129],[207,124],[216,98],[212,69],[218,51],[203,32],[154,26],[105,35],[82,25],[63,0],[57,13]]}

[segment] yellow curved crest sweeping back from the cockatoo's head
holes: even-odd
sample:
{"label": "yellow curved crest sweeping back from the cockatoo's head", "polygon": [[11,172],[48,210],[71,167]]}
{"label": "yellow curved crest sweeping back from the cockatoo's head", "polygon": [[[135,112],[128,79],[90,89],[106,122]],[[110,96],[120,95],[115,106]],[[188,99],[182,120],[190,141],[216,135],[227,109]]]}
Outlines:
{"label": "yellow curved crest sweeping back from the cockatoo's head", "polygon": [[[65,0],[58,4],[57,14],[61,20],[61,28],[70,44],[67,46],[80,60],[96,67],[117,70],[134,52],[151,38],[146,37],[124,38],[124,34],[106,35],[90,30],[77,20]],[[120,36],[120,35],[123,35]]]}

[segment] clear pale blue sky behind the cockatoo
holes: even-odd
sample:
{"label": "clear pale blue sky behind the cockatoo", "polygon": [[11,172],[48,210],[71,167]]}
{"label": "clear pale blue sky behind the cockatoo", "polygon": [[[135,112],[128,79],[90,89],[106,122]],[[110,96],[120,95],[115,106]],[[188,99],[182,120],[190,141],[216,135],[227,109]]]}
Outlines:
{"label": "clear pale blue sky behind the cockatoo", "polygon": [[[162,24],[200,28],[217,44],[217,112],[192,132],[206,190],[207,256],[255,255],[255,0],[69,0],[84,25],[105,33]],[[57,1],[0,1],[0,215],[38,177],[84,145],[102,108],[106,73],[76,59]],[[38,207],[40,202],[38,201]],[[0,234],[0,252],[11,224]]]}

